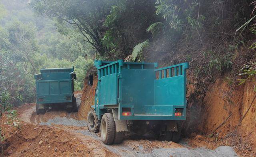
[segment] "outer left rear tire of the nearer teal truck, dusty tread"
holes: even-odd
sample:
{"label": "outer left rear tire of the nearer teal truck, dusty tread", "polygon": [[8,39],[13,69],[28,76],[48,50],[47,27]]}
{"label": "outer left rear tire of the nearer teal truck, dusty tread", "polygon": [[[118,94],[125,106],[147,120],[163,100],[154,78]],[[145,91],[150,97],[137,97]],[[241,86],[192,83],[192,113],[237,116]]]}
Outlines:
{"label": "outer left rear tire of the nearer teal truck, dusty tread", "polygon": [[111,113],[104,113],[102,116],[100,123],[100,135],[104,144],[113,144],[115,136],[115,121]]}

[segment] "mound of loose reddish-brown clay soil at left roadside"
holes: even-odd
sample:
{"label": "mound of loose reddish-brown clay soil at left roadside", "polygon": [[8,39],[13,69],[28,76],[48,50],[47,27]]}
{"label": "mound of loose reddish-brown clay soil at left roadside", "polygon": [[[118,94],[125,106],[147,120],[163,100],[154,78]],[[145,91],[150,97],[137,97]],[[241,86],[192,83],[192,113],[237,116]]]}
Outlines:
{"label": "mound of loose reddish-brown clay soil at left roadside", "polygon": [[61,129],[20,122],[18,127],[6,124],[6,115],[0,120],[2,135],[1,156],[94,156],[74,135]]}

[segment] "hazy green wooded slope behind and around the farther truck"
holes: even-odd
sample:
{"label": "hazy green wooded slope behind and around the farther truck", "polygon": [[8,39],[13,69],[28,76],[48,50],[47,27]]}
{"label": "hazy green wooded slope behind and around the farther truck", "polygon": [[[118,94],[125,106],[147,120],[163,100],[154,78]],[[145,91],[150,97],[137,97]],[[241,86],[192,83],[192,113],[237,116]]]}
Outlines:
{"label": "hazy green wooded slope behind and around the farther truck", "polygon": [[[75,67],[75,90],[83,87],[94,50],[80,32],[34,16],[28,1],[0,2],[0,113],[35,101],[34,74],[41,68]],[[10,113],[11,114],[11,113]]]}

